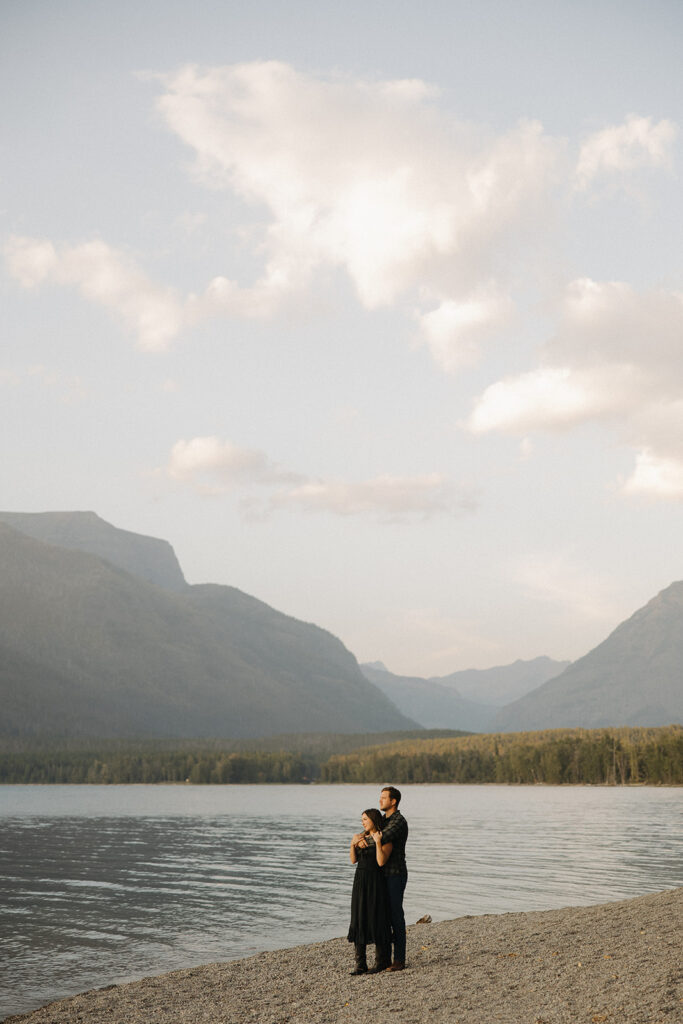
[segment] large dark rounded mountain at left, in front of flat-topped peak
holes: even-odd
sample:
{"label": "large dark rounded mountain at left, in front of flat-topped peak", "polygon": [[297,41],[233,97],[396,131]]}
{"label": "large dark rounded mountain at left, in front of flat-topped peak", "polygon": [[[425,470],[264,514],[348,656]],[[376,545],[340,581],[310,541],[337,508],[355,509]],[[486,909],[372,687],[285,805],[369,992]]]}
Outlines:
{"label": "large dark rounded mountain at left, in front of flat-topped peak", "polygon": [[[62,515],[42,524],[58,525],[75,544],[84,520],[77,514],[69,523]],[[27,522],[35,530],[37,520]],[[86,526],[93,544],[106,540],[109,524]],[[0,522],[2,734],[239,737],[415,728],[330,633],[231,587],[183,581],[179,588],[169,548],[130,538],[126,551],[125,531],[117,531],[119,561],[170,581],[170,589]],[[135,553],[144,556],[140,564]]]}

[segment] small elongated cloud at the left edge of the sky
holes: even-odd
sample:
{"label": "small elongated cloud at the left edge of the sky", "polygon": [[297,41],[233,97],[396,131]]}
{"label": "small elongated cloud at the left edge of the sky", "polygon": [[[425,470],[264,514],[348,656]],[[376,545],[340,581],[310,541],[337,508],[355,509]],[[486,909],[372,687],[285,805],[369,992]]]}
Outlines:
{"label": "small elongated cloud at the left edge of the sky", "polygon": [[12,237],[5,246],[10,274],[24,288],[69,285],[122,317],[151,351],[168,346],[185,323],[181,301],[170,288],[155,285],[135,262],[103,242],[56,249],[51,242]]}

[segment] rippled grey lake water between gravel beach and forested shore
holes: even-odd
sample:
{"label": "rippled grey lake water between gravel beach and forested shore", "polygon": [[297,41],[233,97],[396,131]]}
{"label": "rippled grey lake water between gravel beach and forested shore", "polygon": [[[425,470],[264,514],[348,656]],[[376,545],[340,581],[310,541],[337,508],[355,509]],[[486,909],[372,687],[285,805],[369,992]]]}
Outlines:
{"label": "rippled grey lake water between gravel beach and forested shore", "polygon": [[[402,793],[409,924],[683,885],[682,790]],[[0,1018],[344,935],[348,843],[378,796],[375,785],[0,786]]]}

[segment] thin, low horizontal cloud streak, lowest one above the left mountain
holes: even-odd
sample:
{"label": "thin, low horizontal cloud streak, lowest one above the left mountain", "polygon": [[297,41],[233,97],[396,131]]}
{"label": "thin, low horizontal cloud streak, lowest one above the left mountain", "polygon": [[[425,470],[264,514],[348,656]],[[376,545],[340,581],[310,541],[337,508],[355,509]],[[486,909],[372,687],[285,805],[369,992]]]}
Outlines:
{"label": "thin, low horizontal cloud streak, lowest one above the left mountain", "polygon": [[243,510],[251,518],[298,509],[340,516],[374,515],[398,522],[474,507],[471,495],[459,492],[438,473],[385,474],[361,481],[312,479],[283,469],[264,452],[238,447],[216,436],[177,441],[166,472],[203,495],[242,493]]}

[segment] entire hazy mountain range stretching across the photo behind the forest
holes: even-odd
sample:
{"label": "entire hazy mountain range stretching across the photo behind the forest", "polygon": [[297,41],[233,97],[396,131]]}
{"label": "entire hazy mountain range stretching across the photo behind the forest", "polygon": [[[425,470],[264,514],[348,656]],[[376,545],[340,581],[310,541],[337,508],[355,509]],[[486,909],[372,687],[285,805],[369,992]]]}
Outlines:
{"label": "entire hazy mountain range stretching across the photo behind the forest", "polygon": [[0,512],[0,735],[255,737],[683,721],[683,583],[584,657],[447,676],[358,667],[332,634],[93,512]]}

